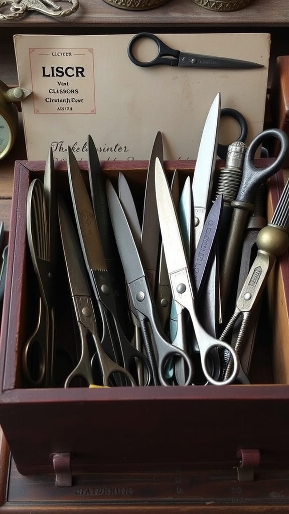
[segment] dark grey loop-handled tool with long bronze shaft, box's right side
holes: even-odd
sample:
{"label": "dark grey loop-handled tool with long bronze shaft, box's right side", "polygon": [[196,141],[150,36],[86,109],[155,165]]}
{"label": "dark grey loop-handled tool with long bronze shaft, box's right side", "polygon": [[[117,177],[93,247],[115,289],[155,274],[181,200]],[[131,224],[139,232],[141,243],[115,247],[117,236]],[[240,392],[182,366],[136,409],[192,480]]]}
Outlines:
{"label": "dark grey loop-handled tool with long bronze shaft, box's right side", "polygon": [[[256,151],[264,140],[271,138],[277,138],[279,140],[279,154],[276,157],[276,160],[268,164],[268,166],[265,166],[264,168],[256,168],[254,165]],[[269,128],[268,130],[258,134],[250,142],[245,152],[240,187],[236,199],[231,203],[233,212],[220,271],[221,301],[224,312],[229,299],[229,293],[242,245],[247,217],[250,211],[254,211],[254,201],[257,188],[261,182],[274,175],[282,168],[287,151],[288,138],[286,134],[278,128]]]}

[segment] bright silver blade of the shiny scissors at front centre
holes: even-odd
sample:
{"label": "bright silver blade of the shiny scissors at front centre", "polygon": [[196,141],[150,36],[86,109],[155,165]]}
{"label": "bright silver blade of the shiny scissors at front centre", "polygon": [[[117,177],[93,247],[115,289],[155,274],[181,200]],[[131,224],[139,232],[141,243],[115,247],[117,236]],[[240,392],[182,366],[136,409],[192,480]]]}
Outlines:
{"label": "bright silver blade of the shiny scissors at front centre", "polygon": [[188,268],[188,262],[167,177],[157,158],[155,163],[155,189],[162,244],[164,245],[170,275],[179,269]]}

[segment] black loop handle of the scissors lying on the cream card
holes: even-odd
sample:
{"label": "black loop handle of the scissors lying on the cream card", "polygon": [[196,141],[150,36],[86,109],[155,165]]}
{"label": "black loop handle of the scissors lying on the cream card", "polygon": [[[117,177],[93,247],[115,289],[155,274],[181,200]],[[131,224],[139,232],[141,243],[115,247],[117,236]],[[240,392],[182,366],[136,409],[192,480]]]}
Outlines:
{"label": "black loop handle of the scissors lying on the cream card", "polygon": [[[152,61],[139,61],[133,53],[133,47],[135,43],[141,39],[150,39],[154,41],[157,45],[157,54]],[[132,63],[136,66],[141,66],[143,68],[147,68],[150,66],[156,66],[157,64],[166,64],[167,66],[177,66],[178,58],[179,58],[179,50],[174,50],[170,48],[165,43],[163,43],[155,34],[151,32],[140,32],[133,36],[128,45],[128,56]],[[170,59],[170,57],[172,59]]]}

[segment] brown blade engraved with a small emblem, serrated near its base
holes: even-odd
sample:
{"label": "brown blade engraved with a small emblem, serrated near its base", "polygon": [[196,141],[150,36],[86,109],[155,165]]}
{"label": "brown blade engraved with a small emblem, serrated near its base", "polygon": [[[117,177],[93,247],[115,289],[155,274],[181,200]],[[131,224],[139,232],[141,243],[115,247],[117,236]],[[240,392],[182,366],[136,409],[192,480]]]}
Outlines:
{"label": "brown blade engraved with a small emblem, serrated near its base", "polygon": [[85,264],[88,269],[107,271],[99,230],[85,182],[69,146],[67,152],[70,192]]}

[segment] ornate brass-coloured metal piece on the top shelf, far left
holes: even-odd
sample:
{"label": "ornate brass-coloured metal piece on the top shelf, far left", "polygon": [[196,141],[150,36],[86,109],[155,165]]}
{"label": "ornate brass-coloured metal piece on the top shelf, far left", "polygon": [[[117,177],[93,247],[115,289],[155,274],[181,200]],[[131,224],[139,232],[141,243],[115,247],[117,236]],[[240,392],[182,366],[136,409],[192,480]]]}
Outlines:
{"label": "ornate brass-coloured metal piece on the top shelf, far left", "polygon": [[[64,0],[66,2],[66,0]],[[0,0],[0,9],[10,6],[11,14],[0,13],[0,20],[14,20],[19,16],[23,16],[26,11],[38,11],[46,16],[68,16],[79,8],[78,0],[68,0],[71,7],[62,9],[52,0]]]}

